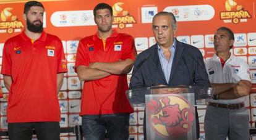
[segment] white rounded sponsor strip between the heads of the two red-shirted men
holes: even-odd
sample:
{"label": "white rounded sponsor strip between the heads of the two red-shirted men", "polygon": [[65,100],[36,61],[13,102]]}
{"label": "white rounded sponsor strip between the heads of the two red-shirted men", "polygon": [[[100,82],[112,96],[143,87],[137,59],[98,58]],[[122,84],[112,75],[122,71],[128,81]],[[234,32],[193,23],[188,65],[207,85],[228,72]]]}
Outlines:
{"label": "white rounded sponsor strip between the heads of the two red-shirted men", "polygon": [[93,10],[57,11],[51,15],[55,27],[78,27],[96,25]]}

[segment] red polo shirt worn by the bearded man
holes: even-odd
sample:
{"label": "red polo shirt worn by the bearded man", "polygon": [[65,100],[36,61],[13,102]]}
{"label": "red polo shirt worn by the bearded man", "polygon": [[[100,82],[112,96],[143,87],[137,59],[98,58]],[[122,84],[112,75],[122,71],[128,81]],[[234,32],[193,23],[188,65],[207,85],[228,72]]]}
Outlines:
{"label": "red polo shirt worn by the bearded man", "polygon": [[11,76],[8,123],[59,121],[57,74],[67,72],[61,40],[41,33],[33,41],[23,31],[4,44],[2,75]]}

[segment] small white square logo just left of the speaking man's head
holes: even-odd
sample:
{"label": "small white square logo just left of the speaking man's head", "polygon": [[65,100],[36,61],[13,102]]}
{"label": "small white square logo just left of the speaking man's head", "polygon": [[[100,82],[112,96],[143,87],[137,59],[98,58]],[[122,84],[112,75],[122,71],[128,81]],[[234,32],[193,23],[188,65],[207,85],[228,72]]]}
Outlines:
{"label": "small white square logo just left of the speaking man's head", "polygon": [[157,7],[142,7],[142,23],[151,23],[154,15],[158,12]]}

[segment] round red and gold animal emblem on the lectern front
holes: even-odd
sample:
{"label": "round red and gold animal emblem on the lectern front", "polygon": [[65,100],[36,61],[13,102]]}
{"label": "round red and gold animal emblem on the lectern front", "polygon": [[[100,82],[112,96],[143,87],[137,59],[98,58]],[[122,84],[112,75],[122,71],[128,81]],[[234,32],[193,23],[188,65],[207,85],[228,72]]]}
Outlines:
{"label": "round red and gold animal emblem on the lectern front", "polygon": [[194,123],[194,107],[180,95],[162,96],[147,102],[150,126],[163,138],[187,134]]}

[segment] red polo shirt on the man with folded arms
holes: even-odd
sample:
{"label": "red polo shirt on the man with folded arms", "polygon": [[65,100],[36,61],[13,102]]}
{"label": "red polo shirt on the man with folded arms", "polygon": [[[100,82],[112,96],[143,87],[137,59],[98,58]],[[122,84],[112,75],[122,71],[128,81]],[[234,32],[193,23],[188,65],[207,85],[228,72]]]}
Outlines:
{"label": "red polo shirt on the man with folded arms", "polygon": [[[114,30],[105,43],[104,49],[103,41],[97,34],[83,38],[77,49],[75,68],[79,65],[88,66],[92,62],[135,59],[132,36]],[[85,81],[80,115],[133,112],[126,98],[127,89],[126,75],[109,75],[99,80]]]}

